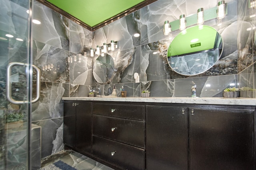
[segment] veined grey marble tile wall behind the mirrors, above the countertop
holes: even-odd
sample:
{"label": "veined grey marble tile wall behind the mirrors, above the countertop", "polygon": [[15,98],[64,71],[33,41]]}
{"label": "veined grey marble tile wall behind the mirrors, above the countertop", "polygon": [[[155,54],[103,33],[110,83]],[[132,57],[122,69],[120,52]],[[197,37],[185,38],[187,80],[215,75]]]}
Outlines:
{"label": "veined grey marble tile wall behind the mirrors, above the countertop", "polygon": [[[217,19],[204,22],[204,25],[213,27],[221,34],[224,43],[219,61],[210,70],[196,76],[184,76],[174,72],[167,63],[166,53],[173,37],[180,31],[172,31],[172,39],[169,39],[170,36],[163,35],[162,27],[164,21],[178,20],[181,14],[189,16],[195,14],[198,8],[214,8],[218,0],[201,0],[197,3],[193,0],[158,0],[95,31],[94,48],[114,40],[118,41],[120,52],[112,55],[116,73],[110,84],[99,84],[93,79],[93,87],[100,87],[105,95],[109,94],[109,88],[115,84],[117,89],[124,86],[128,90],[127,96],[140,96],[141,90],[149,89],[150,96],[165,97],[190,96],[191,81],[196,82],[199,97],[222,97],[225,88],[239,87],[238,78],[241,76],[238,73],[253,61],[252,55],[248,56],[250,62],[241,59],[241,50],[245,49],[240,44],[241,41],[251,42],[253,31],[249,34],[240,30],[240,27],[245,27],[245,23],[240,20],[246,18],[244,8],[248,2],[225,2],[228,3],[228,14],[222,19],[222,25],[218,26]],[[140,33],[140,37],[134,37],[134,33]],[[252,54],[250,51],[248,53]],[[242,61],[242,64],[238,61]],[[135,72],[140,75],[139,84],[134,83]],[[254,75],[254,72],[251,74]]]}

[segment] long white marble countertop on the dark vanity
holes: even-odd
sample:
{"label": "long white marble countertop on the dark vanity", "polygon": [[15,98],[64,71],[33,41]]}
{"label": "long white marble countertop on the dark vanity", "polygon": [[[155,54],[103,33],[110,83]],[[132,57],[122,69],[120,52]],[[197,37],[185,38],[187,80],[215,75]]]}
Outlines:
{"label": "long white marble countertop on the dark vanity", "polygon": [[153,103],[180,103],[180,104],[218,104],[256,106],[256,98],[179,98],[179,97],[116,97],[116,98],[89,98],[70,97],[62,100],[108,101],[108,102],[153,102]]}

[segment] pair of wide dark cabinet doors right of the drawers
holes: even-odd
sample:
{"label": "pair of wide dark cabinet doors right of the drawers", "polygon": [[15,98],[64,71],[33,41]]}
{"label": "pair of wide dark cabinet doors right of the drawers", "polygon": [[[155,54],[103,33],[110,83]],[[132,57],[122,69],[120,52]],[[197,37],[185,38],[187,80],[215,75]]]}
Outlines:
{"label": "pair of wide dark cabinet doors right of the drawers", "polygon": [[254,170],[254,116],[246,106],[146,106],[146,169]]}

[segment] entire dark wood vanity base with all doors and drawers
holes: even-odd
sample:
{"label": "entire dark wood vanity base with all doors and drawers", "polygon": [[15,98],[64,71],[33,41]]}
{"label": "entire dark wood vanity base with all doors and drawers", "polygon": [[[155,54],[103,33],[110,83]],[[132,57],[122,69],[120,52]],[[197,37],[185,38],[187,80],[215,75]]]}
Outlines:
{"label": "entire dark wood vanity base with all doors and drawers", "polygon": [[255,106],[64,102],[64,144],[120,170],[255,170]]}

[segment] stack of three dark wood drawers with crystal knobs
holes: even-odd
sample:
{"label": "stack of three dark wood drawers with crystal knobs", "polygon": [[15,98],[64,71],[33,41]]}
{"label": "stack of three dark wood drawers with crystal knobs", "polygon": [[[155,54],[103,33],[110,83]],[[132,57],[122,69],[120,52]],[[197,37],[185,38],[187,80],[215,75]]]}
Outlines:
{"label": "stack of three dark wood drawers with crystal knobs", "polygon": [[92,104],[92,156],[118,169],[145,169],[145,106]]}

